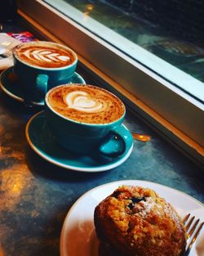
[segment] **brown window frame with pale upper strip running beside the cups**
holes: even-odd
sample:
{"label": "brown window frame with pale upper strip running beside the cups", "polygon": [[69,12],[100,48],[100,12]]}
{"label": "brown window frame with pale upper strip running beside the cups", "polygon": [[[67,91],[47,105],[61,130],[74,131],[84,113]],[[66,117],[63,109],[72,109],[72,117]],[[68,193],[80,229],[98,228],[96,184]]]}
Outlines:
{"label": "brown window frame with pale upper strip running beside the cups", "polygon": [[204,163],[204,106],[201,101],[132,60],[46,2],[17,0],[17,6],[18,13],[30,29],[41,34],[42,38],[73,48],[78,54],[78,65],[91,74],[96,83],[118,94],[175,146],[197,162]]}

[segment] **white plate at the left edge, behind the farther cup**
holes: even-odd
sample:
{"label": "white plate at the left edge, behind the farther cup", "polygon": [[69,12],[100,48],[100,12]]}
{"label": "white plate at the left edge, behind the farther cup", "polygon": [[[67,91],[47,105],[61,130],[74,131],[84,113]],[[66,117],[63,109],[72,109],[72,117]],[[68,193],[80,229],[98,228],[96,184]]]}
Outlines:
{"label": "white plate at the left edge, behind the farther cup", "polygon": [[[11,51],[16,45],[21,42],[16,38],[12,38],[6,33],[0,33],[0,54],[4,54],[7,51]],[[13,65],[13,57],[10,56],[8,58],[1,59],[0,58],[0,70],[6,70],[8,67]]]}

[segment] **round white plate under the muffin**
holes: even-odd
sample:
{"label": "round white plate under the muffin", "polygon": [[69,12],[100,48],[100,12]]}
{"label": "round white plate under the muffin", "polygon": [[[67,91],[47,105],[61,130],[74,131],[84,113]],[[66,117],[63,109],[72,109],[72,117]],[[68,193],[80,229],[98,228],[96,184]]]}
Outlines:
{"label": "round white plate under the muffin", "polygon": [[[82,195],[69,209],[60,235],[60,256],[98,256],[98,241],[95,236],[94,209],[101,200],[110,195],[118,186],[131,184],[149,187],[171,203],[181,217],[194,210],[204,213],[203,204],[193,197],[167,186],[139,180],[111,182],[97,186]],[[203,218],[203,216],[202,216]],[[195,249],[190,256],[197,255]],[[202,254],[198,254],[203,256]]]}

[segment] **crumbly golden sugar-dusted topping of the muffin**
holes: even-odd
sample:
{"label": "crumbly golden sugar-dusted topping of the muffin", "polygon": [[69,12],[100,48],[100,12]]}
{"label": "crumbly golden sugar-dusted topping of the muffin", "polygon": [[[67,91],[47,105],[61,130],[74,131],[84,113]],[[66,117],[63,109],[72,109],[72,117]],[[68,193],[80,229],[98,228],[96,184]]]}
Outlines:
{"label": "crumbly golden sugar-dusted topping of the muffin", "polygon": [[131,234],[133,242],[140,241],[146,233],[154,242],[157,237],[166,236],[166,232],[173,233],[179,221],[170,204],[153,190],[140,186],[121,186],[114,191],[109,198],[107,215],[123,236]]}

